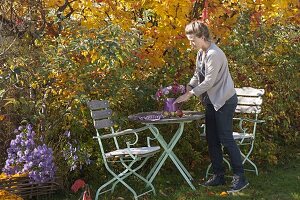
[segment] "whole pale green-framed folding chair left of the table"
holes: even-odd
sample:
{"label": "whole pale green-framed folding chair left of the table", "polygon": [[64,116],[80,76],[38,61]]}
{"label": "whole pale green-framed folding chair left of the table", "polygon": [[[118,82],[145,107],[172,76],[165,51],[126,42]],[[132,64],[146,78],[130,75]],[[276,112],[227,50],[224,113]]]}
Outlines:
{"label": "whole pale green-framed folding chair left of the table", "polygon": [[[111,120],[112,110],[109,109],[108,101],[91,100],[87,102],[87,105],[90,109],[91,117],[96,129],[96,136],[94,138],[99,142],[105,168],[112,175],[112,179],[98,188],[95,199],[98,200],[99,195],[103,193],[109,191],[112,193],[118,184],[125,186],[133,194],[134,199],[138,199],[138,197],[149,192],[153,192],[155,194],[153,185],[146,178],[138,174],[137,171],[145,165],[149,158],[153,157],[153,155],[160,151],[160,147],[151,147],[149,143],[146,147],[134,147],[139,139],[138,133],[146,131],[148,127],[144,126],[138,129],[126,129],[115,132],[113,128],[114,122]],[[107,132],[107,130],[105,131],[104,129],[108,129],[109,132]],[[129,135],[133,135],[133,143],[131,143],[129,140],[126,140]],[[123,142],[118,140],[120,137],[125,137],[122,138]],[[112,140],[111,142],[114,144],[112,149],[105,149],[107,146],[105,145],[105,142],[108,142],[107,140]],[[149,141],[148,138],[147,140]],[[122,143],[126,143],[126,145],[123,145],[123,148],[121,147]],[[116,164],[119,164],[122,168],[121,172],[116,172],[118,171],[115,170]],[[114,167],[112,167],[112,165],[114,165]],[[126,182],[127,178],[130,176],[135,176],[144,182],[146,191],[143,191],[141,194],[137,194],[136,188],[134,189]],[[141,189],[141,186],[139,186],[139,189]]]}

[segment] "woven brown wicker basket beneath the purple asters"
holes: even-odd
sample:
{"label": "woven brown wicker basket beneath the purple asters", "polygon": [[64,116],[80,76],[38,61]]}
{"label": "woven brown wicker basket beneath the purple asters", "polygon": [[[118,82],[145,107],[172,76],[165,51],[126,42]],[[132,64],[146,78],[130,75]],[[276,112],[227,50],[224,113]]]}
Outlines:
{"label": "woven brown wicker basket beneath the purple asters", "polygon": [[31,183],[28,177],[0,179],[0,190],[6,190],[24,199],[46,195],[50,196],[58,189],[59,184],[56,183],[55,180],[46,183]]}

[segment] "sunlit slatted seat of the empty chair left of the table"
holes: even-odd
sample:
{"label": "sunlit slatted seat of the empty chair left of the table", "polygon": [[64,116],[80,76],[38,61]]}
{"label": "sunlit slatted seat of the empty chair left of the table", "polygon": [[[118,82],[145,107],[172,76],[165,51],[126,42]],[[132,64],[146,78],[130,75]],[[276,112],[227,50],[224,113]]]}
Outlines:
{"label": "sunlit slatted seat of the empty chair left of the table", "polygon": [[111,157],[126,157],[129,156],[129,152],[134,156],[146,157],[157,153],[160,150],[159,146],[153,147],[138,147],[138,148],[124,148],[111,151],[105,154],[106,158]]}

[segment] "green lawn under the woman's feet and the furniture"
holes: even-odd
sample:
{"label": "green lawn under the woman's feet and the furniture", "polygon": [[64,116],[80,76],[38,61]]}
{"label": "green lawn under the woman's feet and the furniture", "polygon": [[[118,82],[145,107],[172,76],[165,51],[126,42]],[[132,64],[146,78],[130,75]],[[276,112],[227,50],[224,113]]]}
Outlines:
{"label": "green lawn under the woman's feet and the furniture", "polygon": [[[198,184],[204,180],[203,177],[193,175],[196,190],[193,191],[184,181],[177,170],[163,172],[157,175],[153,182],[156,188],[156,196],[145,195],[141,200],[213,200],[213,199],[255,199],[255,200],[300,200],[300,158],[283,165],[267,166],[259,168],[259,176],[252,172],[246,172],[250,185],[241,192],[234,195],[221,195],[226,191],[231,179],[227,178],[226,186],[204,188]],[[204,176],[204,171],[202,176]],[[138,187],[140,188],[140,187]],[[92,187],[92,190],[94,188]],[[96,189],[96,187],[95,187]],[[58,194],[53,197],[55,200],[77,200],[79,197],[71,194]],[[117,187],[111,194],[107,193],[99,197],[99,200],[127,200],[133,199],[124,187]]]}

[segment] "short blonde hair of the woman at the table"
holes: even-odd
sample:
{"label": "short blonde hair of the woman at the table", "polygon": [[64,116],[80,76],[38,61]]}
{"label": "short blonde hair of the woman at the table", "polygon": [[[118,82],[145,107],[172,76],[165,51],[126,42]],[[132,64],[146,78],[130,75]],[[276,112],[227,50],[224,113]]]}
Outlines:
{"label": "short blonde hair of the woman at the table", "polygon": [[185,27],[186,35],[195,35],[198,38],[204,37],[206,41],[210,41],[208,27],[200,21],[192,21]]}

